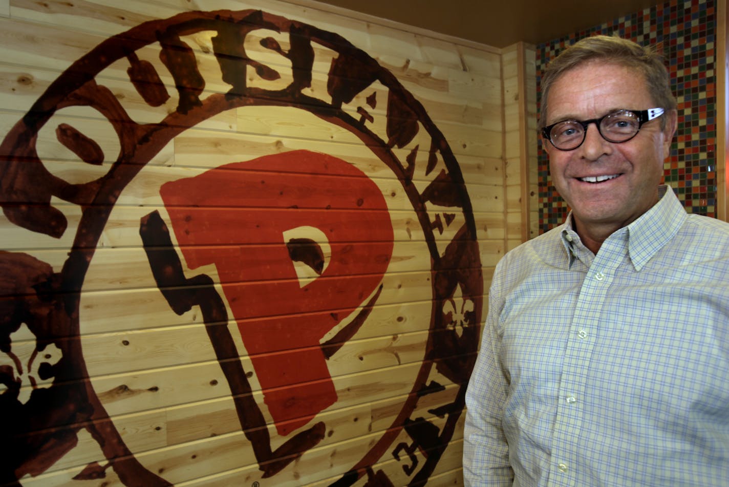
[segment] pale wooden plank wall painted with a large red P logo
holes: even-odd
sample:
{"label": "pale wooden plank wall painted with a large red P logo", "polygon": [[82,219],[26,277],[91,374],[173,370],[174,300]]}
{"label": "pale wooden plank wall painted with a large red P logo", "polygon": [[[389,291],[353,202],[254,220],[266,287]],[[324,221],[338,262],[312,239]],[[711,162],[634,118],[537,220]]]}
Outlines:
{"label": "pale wooden plank wall painted with a large red P logo", "polygon": [[342,13],[0,1],[1,486],[462,482],[517,61]]}

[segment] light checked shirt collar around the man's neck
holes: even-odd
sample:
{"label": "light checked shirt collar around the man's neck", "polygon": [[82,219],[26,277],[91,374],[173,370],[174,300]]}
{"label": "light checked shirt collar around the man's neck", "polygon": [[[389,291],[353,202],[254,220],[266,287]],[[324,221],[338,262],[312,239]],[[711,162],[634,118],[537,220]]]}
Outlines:
{"label": "light checked shirt collar around the man's neck", "polygon": [[[665,184],[658,187],[658,198],[658,203],[625,227],[628,232],[628,257],[638,271],[676,235],[687,218],[681,202],[673,190],[668,191]],[[579,235],[574,231],[572,211],[567,215],[560,236],[567,252],[569,267],[572,267],[576,258],[589,267],[594,256],[582,245]]]}

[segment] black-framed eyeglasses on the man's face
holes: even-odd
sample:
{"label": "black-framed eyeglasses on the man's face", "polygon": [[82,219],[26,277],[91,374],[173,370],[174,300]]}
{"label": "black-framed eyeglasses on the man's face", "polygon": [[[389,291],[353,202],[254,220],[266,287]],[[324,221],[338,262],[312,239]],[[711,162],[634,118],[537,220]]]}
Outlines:
{"label": "black-framed eyeglasses on the man's face", "polygon": [[633,139],[645,122],[654,120],[665,112],[662,108],[647,110],[617,110],[592,120],[562,120],[542,128],[542,135],[556,149],[577,149],[585,141],[588,125],[594,123],[603,139],[620,144]]}

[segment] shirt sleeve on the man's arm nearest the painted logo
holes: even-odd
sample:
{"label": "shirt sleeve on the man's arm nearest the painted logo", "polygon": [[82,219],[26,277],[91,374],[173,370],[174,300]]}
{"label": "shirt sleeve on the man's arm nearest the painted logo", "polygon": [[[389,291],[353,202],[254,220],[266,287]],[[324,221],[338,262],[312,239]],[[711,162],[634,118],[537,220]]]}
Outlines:
{"label": "shirt sleeve on the man's arm nearest the painted logo", "polygon": [[497,329],[504,298],[496,276],[488,295],[488,314],[481,348],[466,391],[466,423],[463,475],[467,487],[511,486],[514,472],[509,464],[509,445],[502,428],[507,379],[499,365]]}

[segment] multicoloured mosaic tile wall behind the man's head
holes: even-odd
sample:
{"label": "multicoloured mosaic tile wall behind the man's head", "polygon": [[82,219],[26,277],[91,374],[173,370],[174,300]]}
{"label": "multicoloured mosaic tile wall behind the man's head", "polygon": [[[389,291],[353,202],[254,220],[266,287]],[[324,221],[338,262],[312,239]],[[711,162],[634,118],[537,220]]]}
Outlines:
{"label": "multicoloured mosaic tile wall behind the man's head", "polygon": [[[664,167],[666,184],[674,187],[688,212],[716,217],[715,30],[714,0],[674,0],[539,44],[537,91],[547,63],[583,37],[617,33],[643,45],[663,43],[679,112],[671,157]],[[539,231],[544,233],[560,225],[567,211],[566,203],[551,184],[547,154],[540,146]]]}

